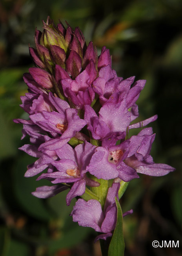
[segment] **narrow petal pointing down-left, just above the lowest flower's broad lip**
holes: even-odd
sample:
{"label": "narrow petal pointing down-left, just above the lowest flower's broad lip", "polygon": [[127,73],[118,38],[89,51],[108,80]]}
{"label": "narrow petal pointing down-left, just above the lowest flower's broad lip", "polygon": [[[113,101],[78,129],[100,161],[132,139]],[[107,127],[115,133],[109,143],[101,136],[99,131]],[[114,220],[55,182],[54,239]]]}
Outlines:
{"label": "narrow petal pointing down-left, just above the lowest flower's broad lip", "polygon": [[85,193],[86,181],[84,179],[76,181],[66,196],[66,204],[70,205],[71,199]]}

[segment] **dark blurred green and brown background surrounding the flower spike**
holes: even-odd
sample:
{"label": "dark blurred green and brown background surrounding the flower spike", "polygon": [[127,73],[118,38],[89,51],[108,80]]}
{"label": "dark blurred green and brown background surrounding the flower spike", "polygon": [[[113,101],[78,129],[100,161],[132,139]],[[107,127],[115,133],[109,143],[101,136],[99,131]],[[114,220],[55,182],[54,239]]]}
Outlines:
{"label": "dark blurred green and brown background surrounding the flower spike", "polygon": [[[152,123],[156,139],[152,156],[176,168],[164,177],[140,175],[121,202],[126,256],[182,255],[182,1],[181,0],[1,0],[0,1],[0,255],[100,256],[95,232],[73,223],[65,193],[47,200],[31,195],[47,185],[24,178],[34,158],[18,150],[22,126],[13,118],[27,86],[24,72],[33,66],[28,44],[49,15],[79,26],[98,54],[103,45],[113,56],[118,76],[147,79],[138,100],[140,119],[158,114]],[[152,241],[179,241],[179,248],[153,248]]]}

